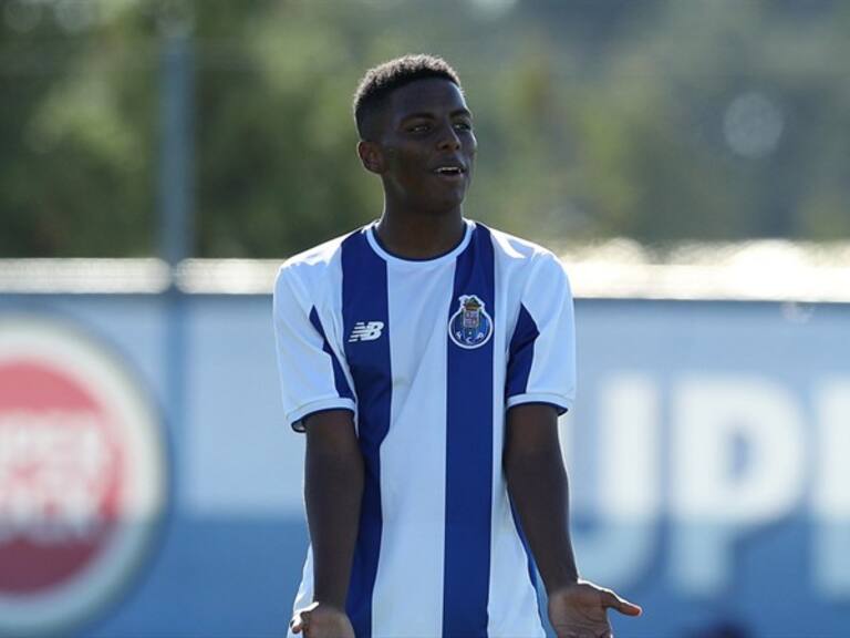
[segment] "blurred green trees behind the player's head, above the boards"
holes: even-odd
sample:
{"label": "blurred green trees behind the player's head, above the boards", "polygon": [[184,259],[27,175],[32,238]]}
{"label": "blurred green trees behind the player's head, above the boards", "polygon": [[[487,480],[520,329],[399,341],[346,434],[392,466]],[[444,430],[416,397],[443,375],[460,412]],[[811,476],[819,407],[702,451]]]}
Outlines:
{"label": "blurred green trees behind the player's head, above the boards", "polygon": [[840,0],[74,1],[91,11],[0,3],[0,256],[155,254],[176,24],[199,256],[281,257],[379,216],[350,100],[410,51],[464,80],[473,217],[543,241],[850,236]]}

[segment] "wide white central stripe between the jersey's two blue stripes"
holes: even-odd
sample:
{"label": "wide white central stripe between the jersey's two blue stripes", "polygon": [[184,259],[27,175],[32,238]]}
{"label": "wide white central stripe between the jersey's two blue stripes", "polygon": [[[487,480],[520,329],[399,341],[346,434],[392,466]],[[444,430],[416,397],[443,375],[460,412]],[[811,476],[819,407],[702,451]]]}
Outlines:
{"label": "wide white central stripe between the jersey's two blue stripes", "polygon": [[[384,526],[374,636],[443,632],[445,343],[453,280],[450,265],[387,271],[393,425],[381,445]],[[435,303],[440,298],[445,301]],[[426,346],[431,340],[436,346]]]}

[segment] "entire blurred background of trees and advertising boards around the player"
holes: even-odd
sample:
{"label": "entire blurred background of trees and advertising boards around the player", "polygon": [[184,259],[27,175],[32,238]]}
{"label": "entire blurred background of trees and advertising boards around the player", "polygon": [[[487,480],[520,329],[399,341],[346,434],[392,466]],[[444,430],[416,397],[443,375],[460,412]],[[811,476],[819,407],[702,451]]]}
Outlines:
{"label": "entire blurred background of trees and advertising boards around the player", "polygon": [[460,74],[467,216],[577,298],[619,636],[850,634],[850,3],[0,0],[0,635],[280,636],[279,264],[380,215],[351,97]]}

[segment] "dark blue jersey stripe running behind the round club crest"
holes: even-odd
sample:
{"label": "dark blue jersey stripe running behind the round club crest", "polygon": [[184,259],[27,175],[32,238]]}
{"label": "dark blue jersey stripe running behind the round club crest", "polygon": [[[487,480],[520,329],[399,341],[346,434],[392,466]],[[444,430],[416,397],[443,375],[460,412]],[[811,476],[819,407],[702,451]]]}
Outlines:
{"label": "dark blue jersey stripe running behind the round club crest", "polygon": [[[494,325],[495,269],[489,230],[478,224],[457,258],[449,319],[475,295]],[[446,539],[443,636],[487,636],[493,494],[494,339],[474,349],[449,337],[446,415]]]}

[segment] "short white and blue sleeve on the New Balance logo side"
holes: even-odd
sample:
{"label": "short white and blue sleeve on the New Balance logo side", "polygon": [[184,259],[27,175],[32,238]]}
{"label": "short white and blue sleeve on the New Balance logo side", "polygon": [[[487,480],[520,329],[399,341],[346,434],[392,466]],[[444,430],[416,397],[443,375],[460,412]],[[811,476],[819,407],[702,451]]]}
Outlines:
{"label": "short white and blue sleeve on the New Balance logo side", "polygon": [[293,275],[282,268],[274,285],[274,340],[287,422],[303,432],[315,412],[356,411],[344,360],[328,339],[319,312]]}

